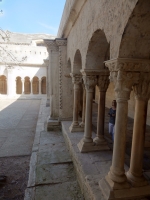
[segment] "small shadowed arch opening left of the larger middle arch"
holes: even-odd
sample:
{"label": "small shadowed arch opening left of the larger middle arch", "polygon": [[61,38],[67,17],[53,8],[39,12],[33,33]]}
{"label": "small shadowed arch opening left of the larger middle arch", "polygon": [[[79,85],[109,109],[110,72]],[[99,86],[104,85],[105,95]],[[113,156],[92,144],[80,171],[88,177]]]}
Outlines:
{"label": "small shadowed arch opening left of the larger middle arch", "polygon": [[80,74],[81,69],[82,69],[82,57],[81,57],[80,50],[78,49],[74,56],[72,72],[76,74]]}

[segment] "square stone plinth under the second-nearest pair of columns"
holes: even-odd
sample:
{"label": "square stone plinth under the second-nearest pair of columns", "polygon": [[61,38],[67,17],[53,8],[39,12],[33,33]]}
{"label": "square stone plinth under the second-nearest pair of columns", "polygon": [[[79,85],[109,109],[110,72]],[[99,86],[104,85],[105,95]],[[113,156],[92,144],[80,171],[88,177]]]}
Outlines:
{"label": "square stone plinth under the second-nearest pair of columns", "polygon": [[94,142],[84,142],[83,139],[77,144],[77,146],[81,153],[104,150],[102,146],[96,145]]}

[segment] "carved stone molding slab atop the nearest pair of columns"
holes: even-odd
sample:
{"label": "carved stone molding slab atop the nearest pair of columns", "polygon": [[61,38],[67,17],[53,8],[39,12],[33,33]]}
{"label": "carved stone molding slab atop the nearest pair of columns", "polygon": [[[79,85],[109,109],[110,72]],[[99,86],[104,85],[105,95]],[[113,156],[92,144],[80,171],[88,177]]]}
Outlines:
{"label": "carved stone molding slab atop the nearest pair of columns", "polygon": [[105,62],[109,71],[150,72],[150,60],[117,58]]}

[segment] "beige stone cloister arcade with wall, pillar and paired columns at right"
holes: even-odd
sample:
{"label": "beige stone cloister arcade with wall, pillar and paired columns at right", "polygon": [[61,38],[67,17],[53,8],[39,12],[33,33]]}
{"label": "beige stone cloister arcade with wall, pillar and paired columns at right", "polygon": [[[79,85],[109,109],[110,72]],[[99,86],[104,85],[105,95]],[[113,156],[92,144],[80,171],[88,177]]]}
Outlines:
{"label": "beige stone cloister arcade with wall, pillar and paired columns at right", "polygon": [[[145,127],[150,98],[150,1],[66,1],[58,38],[45,39],[49,52],[48,127],[72,119],[69,134],[81,132],[81,153],[107,151],[105,107],[117,101],[113,157],[99,180],[105,199],[150,195],[143,175]],[[92,138],[92,104],[98,103]],[[127,118],[134,118],[129,170],[125,172]],[[58,121],[57,121],[58,120]]]}

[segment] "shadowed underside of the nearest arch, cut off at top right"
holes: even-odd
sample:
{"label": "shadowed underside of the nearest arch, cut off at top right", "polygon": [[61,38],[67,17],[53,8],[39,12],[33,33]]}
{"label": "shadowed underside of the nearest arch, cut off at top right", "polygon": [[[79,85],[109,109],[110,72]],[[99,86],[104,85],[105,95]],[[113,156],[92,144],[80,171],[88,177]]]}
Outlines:
{"label": "shadowed underside of the nearest arch, cut off at top right", "polygon": [[139,0],[120,43],[120,58],[150,59],[150,1]]}

